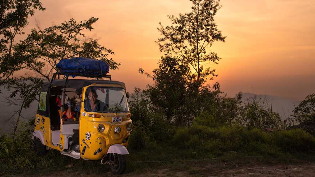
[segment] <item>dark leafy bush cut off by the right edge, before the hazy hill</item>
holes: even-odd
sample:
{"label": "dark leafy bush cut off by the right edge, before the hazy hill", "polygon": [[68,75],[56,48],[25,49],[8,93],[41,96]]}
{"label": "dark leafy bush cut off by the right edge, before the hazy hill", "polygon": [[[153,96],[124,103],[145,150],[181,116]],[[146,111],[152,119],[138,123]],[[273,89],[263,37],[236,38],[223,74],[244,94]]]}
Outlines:
{"label": "dark leafy bush cut off by the right edge, before the hazy hill", "polygon": [[299,123],[315,121],[315,94],[307,95],[293,110],[293,113],[294,118]]}

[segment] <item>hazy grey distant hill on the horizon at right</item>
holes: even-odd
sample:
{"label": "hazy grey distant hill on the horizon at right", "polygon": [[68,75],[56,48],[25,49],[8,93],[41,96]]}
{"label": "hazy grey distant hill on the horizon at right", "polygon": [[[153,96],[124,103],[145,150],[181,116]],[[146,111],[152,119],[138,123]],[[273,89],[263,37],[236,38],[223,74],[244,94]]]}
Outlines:
{"label": "hazy grey distant hill on the horizon at right", "polygon": [[278,112],[283,119],[290,116],[294,108],[301,103],[301,101],[289,100],[282,97],[251,93],[243,93],[242,101],[246,102],[249,98],[254,97],[255,95],[262,100],[265,99],[268,106],[272,106],[272,111]]}

